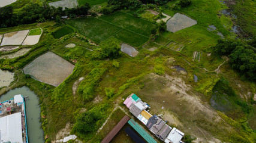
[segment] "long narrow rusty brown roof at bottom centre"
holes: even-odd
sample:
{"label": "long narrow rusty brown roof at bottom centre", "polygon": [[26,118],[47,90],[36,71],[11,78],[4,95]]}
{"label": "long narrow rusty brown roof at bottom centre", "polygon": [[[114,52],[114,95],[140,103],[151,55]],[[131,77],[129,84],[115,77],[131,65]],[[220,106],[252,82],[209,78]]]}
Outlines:
{"label": "long narrow rusty brown roof at bottom centre", "polygon": [[125,123],[128,122],[128,120],[129,120],[129,117],[125,115],[119,121],[119,123],[109,132],[109,134],[103,139],[103,141],[101,141],[101,143],[109,143],[115,137],[115,135],[119,132],[119,130],[123,128]]}

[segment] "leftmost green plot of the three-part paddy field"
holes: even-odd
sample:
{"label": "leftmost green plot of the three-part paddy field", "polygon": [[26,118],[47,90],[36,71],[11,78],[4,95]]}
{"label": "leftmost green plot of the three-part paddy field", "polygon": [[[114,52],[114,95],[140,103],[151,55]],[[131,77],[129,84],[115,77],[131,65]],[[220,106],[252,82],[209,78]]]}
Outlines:
{"label": "leftmost green plot of the three-part paddy field", "polygon": [[104,41],[122,29],[121,27],[93,17],[76,18],[68,20],[67,22],[71,26],[75,27],[79,33],[87,36],[89,39],[92,39],[97,43]]}

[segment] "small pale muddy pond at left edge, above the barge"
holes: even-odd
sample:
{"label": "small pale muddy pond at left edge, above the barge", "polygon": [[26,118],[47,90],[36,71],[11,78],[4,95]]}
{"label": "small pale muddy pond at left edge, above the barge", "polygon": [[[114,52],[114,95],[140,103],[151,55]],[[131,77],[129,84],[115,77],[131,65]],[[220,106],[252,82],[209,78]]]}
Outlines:
{"label": "small pale muddy pond at left edge, above the barge", "polygon": [[10,85],[10,83],[13,82],[13,76],[14,73],[6,70],[3,71],[0,69],[0,88]]}

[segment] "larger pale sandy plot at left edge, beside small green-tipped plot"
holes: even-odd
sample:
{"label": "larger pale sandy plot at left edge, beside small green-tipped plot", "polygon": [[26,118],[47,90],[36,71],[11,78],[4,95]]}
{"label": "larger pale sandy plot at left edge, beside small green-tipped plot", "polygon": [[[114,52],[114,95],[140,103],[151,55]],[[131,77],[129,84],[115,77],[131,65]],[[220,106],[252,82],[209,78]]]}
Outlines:
{"label": "larger pale sandy plot at left edge, beside small green-tipped plot", "polygon": [[2,39],[1,46],[4,45],[21,45],[23,40],[28,35],[29,30],[22,30],[18,32],[5,33]]}

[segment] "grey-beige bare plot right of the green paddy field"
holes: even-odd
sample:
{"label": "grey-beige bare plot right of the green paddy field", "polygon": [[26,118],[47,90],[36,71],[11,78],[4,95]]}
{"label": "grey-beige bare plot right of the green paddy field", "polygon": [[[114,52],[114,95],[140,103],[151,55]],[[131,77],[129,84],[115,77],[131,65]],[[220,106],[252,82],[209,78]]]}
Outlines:
{"label": "grey-beige bare plot right of the green paddy field", "polygon": [[196,20],[193,20],[184,14],[176,13],[167,21],[167,30],[174,33],[195,24],[197,24]]}

